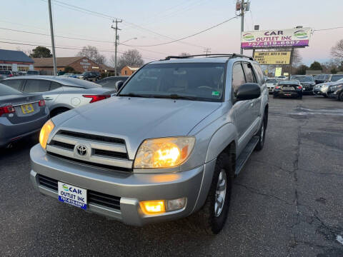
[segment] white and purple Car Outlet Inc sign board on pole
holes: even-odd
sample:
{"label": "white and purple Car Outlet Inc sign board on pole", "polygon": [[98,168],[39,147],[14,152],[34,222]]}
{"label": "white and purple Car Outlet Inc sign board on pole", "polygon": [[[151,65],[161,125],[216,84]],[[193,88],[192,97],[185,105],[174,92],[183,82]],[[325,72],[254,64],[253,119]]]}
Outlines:
{"label": "white and purple Car Outlet Inc sign board on pole", "polygon": [[243,31],[241,47],[242,49],[254,49],[262,47],[309,46],[311,32],[311,28]]}

